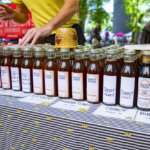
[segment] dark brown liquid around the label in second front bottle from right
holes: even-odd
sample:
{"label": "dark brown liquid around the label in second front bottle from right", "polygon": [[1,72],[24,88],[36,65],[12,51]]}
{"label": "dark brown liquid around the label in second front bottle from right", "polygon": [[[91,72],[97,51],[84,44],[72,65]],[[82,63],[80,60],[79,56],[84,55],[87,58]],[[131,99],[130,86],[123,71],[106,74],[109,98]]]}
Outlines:
{"label": "dark brown liquid around the label in second front bottle from right", "polygon": [[[124,65],[123,65],[122,70],[121,70],[121,77],[135,78],[133,107],[136,106],[136,100],[137,100],[137,73],[136,73],[135,68],[136,68],[135,62],[124,62]],[[126,83],[126,84],[128,84],[128,83]],[[121,84],[120,84],[120,87],[121,87]],[[122,107],[125,107],[125,106],[122,106]],[[133,108],[133,107],[127,107],[127,108]]]}

